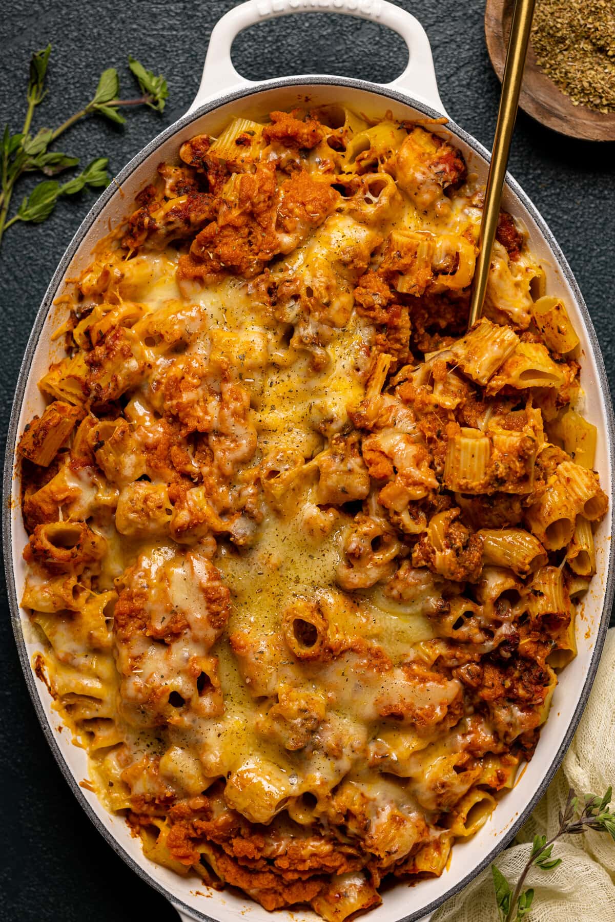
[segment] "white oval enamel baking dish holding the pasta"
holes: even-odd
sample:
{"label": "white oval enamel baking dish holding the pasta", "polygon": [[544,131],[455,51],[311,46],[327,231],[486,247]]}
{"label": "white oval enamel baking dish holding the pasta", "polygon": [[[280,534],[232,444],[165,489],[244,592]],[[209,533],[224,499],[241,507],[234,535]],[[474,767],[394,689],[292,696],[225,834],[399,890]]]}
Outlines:
{"label": "white oval enamel baking dish holding the pasta", "polygon": [[[408,66],[400,77],[385,86],[364,80],[341,77],[287,77],[252,83],[240,77],[231,64],[231,43],[243,29],[263,19],[313,9],[346,13],[396,30],[408,44]],[[26,544],[19,510],[19,483],[15,475],[15,447],[25,423],[42,407],[37,382],[47,370],[50,359],[55,361],[60,347],[51,341],[61,308],[53,307],[65,277],[75,276],[89,261],[94,243],[110,224],[126,216],[136,192],[156,171],[160,160],[177,158],[181,142],[197,133],[216,134],[228,122],[231,114],[258,119],[274,109],[289,109],[293,105],[311,105],[344,101],[350,108],[368,114],[390,109],[399,119],[441,116],[444,107],[436,86],[432,53],[420,23],[407,12],[384,0],[248,0],[236,6],[219,20],[211,34],[201,85],[188,112],[175,124],[156,137],[130,163],[101,195],[81,224],[65,252],[37,315],[15,395],[10,420],[5,467],[5,560],[8,595],[19,656],[30,689],[30,695],[41,720],[41,726],[55,758],[89,818],[112,848],[151,886],[171,901],[184,920],[216,919],[234,922],[249,913],[253,922],[270,922],[261,906],[238,892],[207,892],[200,881],[183,879],[171,870],[153,864],[143,856],[140,841],[134,839],[124,820],[109,815],[96,796],[79,786],[88,777],[85,751],[72,745],[67,734],[57,732],[58,715],[52,709],[52,699],[45,686],[34,678],[30,660],[38,646],[29,631],[18,599],[23,585],[21,550]],[[471,171],[486,178],[488,152],[454,122],[438,133],[453,139],[461,148]],[[609,385],[600,356],[596,333],[585,302],[570,267],[555,242],[545,221],[517,183],[510,177],[504,191],[504,207],[525,225],[534,253],[538,255],[548,277],[548,290],[561,296],[581,337],[582,386],[585,392],[585,417],[599,431],[597,470],[603,489],[612,495],[613,443],[615,420],[609,397]],[[412,922],[429,914],[452,893],[463,887],[507,845],[526,820],[555,774],[568,747],[574,729],[583,713],[609,623],[613,596],[613,548],[610,541],[613,507],[596,534],[597,576],[587,594],[578,622],[578,656],[565,668],[550,712],[543,728],[538,749],[514,789],[500,801],[491,820],[473,838],[457,843],[450,867],[442,877],[421,881],[410,886],[397,883],[384,893],[383,904],[370,914],[371,922]],[[201,891],[200,893],[197,891]],[[314,922],[310,910],[279,911],[287,922]]]}

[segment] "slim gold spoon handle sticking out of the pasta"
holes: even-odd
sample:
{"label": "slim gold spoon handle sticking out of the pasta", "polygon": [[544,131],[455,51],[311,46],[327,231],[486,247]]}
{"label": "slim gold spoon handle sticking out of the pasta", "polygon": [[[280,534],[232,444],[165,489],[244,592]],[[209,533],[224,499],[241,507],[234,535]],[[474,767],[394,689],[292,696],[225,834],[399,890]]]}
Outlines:
{"label": "slim gold spoon handle sticking out of the pasta", "polygon": [[516,0],[514,4],[502,78],[498,122],[495,126],[491,164],[485,190],[485,204],[482,209],[482,220],[480,221],[479,257],[472,284],[468,329],[479,319],[482,313],[483,301],[485,300],[487,278],[489,277],[491,266],[491,250],[493,249],[498,218],[500,217],[500,199],[502,198],[508,154],[513,138],[514,120],[519,105],[519,93],[521,92],[521,83],[523,81],[523,69],[526,65],[527,44],[529,31],[532,27],[535,2],[536,0]]}

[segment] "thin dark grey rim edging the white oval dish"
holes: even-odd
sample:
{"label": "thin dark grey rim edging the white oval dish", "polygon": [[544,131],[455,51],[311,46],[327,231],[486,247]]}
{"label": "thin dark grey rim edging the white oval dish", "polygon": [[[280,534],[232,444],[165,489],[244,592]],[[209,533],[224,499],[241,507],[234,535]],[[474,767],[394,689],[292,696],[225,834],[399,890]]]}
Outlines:
{"label": "thin dark grey rim edging the white oval dish", "polygon": [[[215,109],[218,109],[219,106],[221,105],[225,105],[226,103],[232,102],[234,100],[240,100],[243,97],[250,96],[253,93],[261,92],[264,90],[284,89],[284,88],[293,87],[293,86],[309,87],[310,85],[323,86],[323,85],[331,85],[331,84],[333,84],[334,86],[348,87],[351,89],[361,89],[361,90],[366,90],[370,93],[379,94],[380,96],[383,96],[383,97],[386,97],[392,100],[396,100],[397,102],[401,102],[406,105],[410,105],[412,108],[417,109],[420,112],[423,112],[425,115],[427,115],[430,118],[438,118],[440,115],[439,112],[436,112],[430,106],[427,106],[418,100],[412,99],[412,97],[409,95],[405,95],[404,93],[399,92],[395,89],[388,89],[385,86],[380,86],[378,84],[369,83],[368,81],[365,81],[365,80],[351,79],[348,77],[325,77],[325,76],[323,77],[321,76],[284,77],[284,78],[277,79],[277,80],[266,81],[265,83],[254,84],[254,86],[249,86],[243,89],[238,89],[231,93],[225,93],[222,97],[219,97],[217,99],[207,102],[207,104],[201,106],[199,109],[195,110],[195,112],[191,112],[190,114],[184,115],[177,122],[171,124],[167,129],[165,129],[165,131],[161,132],[159,136],[155,137],[152,141],[150,141],[147,147],[143,148],[143,150],[141,150],[141,152],[138,153],[136,157],[130,160],[130,162],[127,163],[126,166],[124,167],[124,170],[118,173],[116,177],[116,183],[117,185],[121,185],[122,183],[124,183],[130,177],[130,175],[136,170],[136,168],[144,160],[146,160],[146,158],[150,154],[152,154],[157,148],[159,148],[160,145],[164,141],[168,140],[171,136],[176,134],[178,130],[185,127],[186,125],[191,124],[192,122],[195,122],[202,115],[205,115],[208,112],[213,112]],[[471,135],[468,135],[467,132],[464,131],[463,128],[460,128],[457,124],[455,124],[455,122],[449,120],[448,124],[446,125],[446,128],[447,130],[451,131],[453,136],[457,136],[461,138],[463,141],[465,141],[466,144],[470,148],[472,148],[479,155],[480,158],[482,158],[483,160],[490,159],[489,151],[483,148],[482,145],[479,144],[479,142],[474,137],[472,137]],[[564,277],[566,278],[567,282],[569,283],[572,290],[574,291],[574,297],[576,299],[577,304],[579,305],[580,311],[585,321],[587,335],[589,337],[589,340],[592,345],[592,349],[594,351],[594,355],[595,355],[596,363],[597,363],[599,384],[602,388],[602,392],[605,397],[605,403],[606,403],[606,408],[607,408],[607,429],[608,429],[608,437],[609,437],[608,438],[609,462],[610,462],[611,472],[615,474],[615,459],[614,459],[614,452],[613,452],[614,444],[615,444],[615,418],[613,417],[613,408],[612,408],[612,404],[610,400],[609,381],[607,379],[607,373],[605,371],[604,362],[602,361],[602,355],[601,355],[600,348],[598,345],[596,331],[594,329],[594,325],[592,324],[591,318],[585,306],[583,295],[581,294],[581,291],[579,290],[579,287],[576,283],[576,280],[570,269],[570,266],[568,266],[568,263],[566,262],[566,259],[564,255],[562,254],[562,250],[560,249],[558,243],[553,237],[553,234],[551,233],[550,229],[545,223],[545,220],[538,213],[538,210],[536,209],[536,207],[532,205],[531,201],[527,198],[526,194],[521,189],[521,187],[518,185],[518,183],[516,183],[509,174],[507,174],[506,182],[507,182],[507,186],[510,189],[510,191],[514,194],[514,196],[516,196],[516,198],[518,198],[522,202],[522,204],[526,207],[527,211],[530,213],[532,218],[536,221],[538,228],[544,235],[546,241],[548,242],[550,246],[552,253],[554,254],[557,260],[558,266],[560,266],[560,268],[562,269],[562,273]],[[15,573],[13,569],[14,554],[13,554],[13,546],[12,546],[12,529],[11,529],[10,510],[11,510],[11,497],[12,497],[12,488],[13,488],[15,448],[16,448],[17,435],[18,435],[18,431],[17,431],[18,418],[19,418],[19,412],[21,409],[23,396],[24,396],[25,389],[26,389],[26,384],[27,384],[28,377],[29,377],[30,364],[34,356],[34,352],[37,348],[39,338],[41,337],[41,330],[45,323],[45,319],[47,317],[47,314],[49,313],[50,308],[52,307],[53,298],[55,297],[56,291],[59,289],[62,283],[62,280],[65,276],[65,271],[70,265],[70,262],[73,259],[74,255],[77,253],[77,248],[80,242],[82,241],[83,237],[85,236],[86,232],[89,231],[89,229],[94,224],[94,221],[101,214],[102,209],[107,205],[107,203],[111,200],[112,195],[114,195],[114,193],[117,191],[117,185],[115,183],[112,183],[102,193],[101,197],[98,199],[96,204],[89,211],[89,214],[82,221],[77,233],[73,237],[73,240],[68,245],[68,248],[66,249],[66,252],[64,256],[62,257],[62,260],[60,261],[59,266],[55,270],[55,273],[53,274],[53,278],[49,284],[49,288],[47,289],[45,296],[42,300],[41,308],[39,310],[39,313],[37,314],[36,320],[34,321],[32,332],[30,334],[30,339],[28,341],[28,346],[26,348],[24,359],[21,365],[21,370],[19,372],[18,384],[17,384],[16,391],[15,391],[15,400],[13,402],[13,408],[11,411],[11,418],[9,422],[8,436],[7,436],[7,441],[6,441],[6,459],[5,459],[5,473],[4,473],[3,538],[4,538],[4,546],[5,546],[6,585],[8,588],[8,600],[9,600],[9,606],[11,610],[11,620],[13,622],[13,630],[15,632],[16,642],[18,644],[19,659],[21,661],[21,667],[23,668],[26,682],[28,684],[28,689],[30,691],[30,697],[34,704],[34,708],[39,717],[39,720],[41,722],[42,731],[47,739],[47,742],[49,743],[49,746],[51,747],[51,750],[53,751],[53,755],[55,757],[56,762],[58,763],[60,767],[62,774],[64,774],[68,785],[73,791],[73,794],[75,795],[75,797],[81,804],[81,807],[83,808],[83,810],[85,810],[86,813],[88,814],[91,822],[94,823],[94,825],[96,826],[98,831],[101,833],[101,835],[106,839],[109,845],[112,846],[112,849],[120,857],[124,859],[128,867],[134,870],[135,873],[138,874],[138,876],[143,881],[147,881],[148,884],[150,884],[155,890],[157,890],[163,896],[169,899],[171,903],[177,909],[181,909],[187,916],[192,916],[195,919],[204,920],[204,922],[213,922],[211,916],[207,916],[205,913],[202,913],[199,910],[194,909],[192,906],[188,906],[187,904],[184,904],[182,900],[178,899],[176,896],[173,896],[171,892],[166,890],[166,888],[159,881],[156,881],[153,877],[151,877],[150,874],[148,874],[147,870],[142,868],[135,861],[133,857],[128,855],[128,853],[124,850],[124,847],[120,845],[120,843],[117,841],[117,839],[115,839],[112,833],[103,826],[103,824],[101,823],[101,820],[98,818],[94,810],[90,807],[87,799],[85,798],[85,795],[82,789],[77,784],[77,779],[71,773],[70,769],[65,763],[62,752],[60,751],[57,745],[57,742],[55,740],[53,729],[50,726],[47,720],[47,717],[44,713],[44,710],[42,708],[42,704],[39,699],[38,691],[36,688],[36,683],[34,680],[34,675],[32,673],[32,669],[30,668],[28,651],[26,650],[26,644],[23,638],[23,633],[21,631],[19,607],[18,607],[18,600],[17,600],[17,593],[16,593],[16,586],[15,586]],[[610,506],[611,533],[613,530],[614,523],[615,523],[615,503],[611,503],[611,506]],[[594,651],[592,653],[592,658],[591,658],[591,662],[589,665],[589,669],[587,671],[587,676],[585,678],[583,690],[581,691],[581,695],[579,698],[577,709],[574,713],[573,720],[571,721],[566,731],[566,734],[564,736],[564,739],[562,740],[562,745],[560,749],[556,752],[555,756],[553,757],[553,760],[550,763],[550,767],[547,770],[547,773],[545,774],[542,784],[538,787],[538,790],[536,791],[536,793],[527,803],[526,809],[523,810],[523,812],[518,816],[518,818],[516,819],[514,824],[510,827],[510,829],[506,833],[503,834],[498,844],[494,845],[491,851],[485,857],[481,859],[478,865],[476,865],[473,869],[471,869],[471,871],[469,871],[469,873],[466,875],[466,877],[462,881],[459,881],[457,884],[455,884],[455,886],[451,887],[448,891],[446,891],[442,896],[438,897],[438,899],[434,900],[431,904],[423,906],[420,909],[415,910],[414,912],[411,912],[408,916],[404,916],[402,919],[398,920],[398,922],[417,922],[417,920],[423,918],[423,916],[427,916],[429,913],[432,913],[438,906],[443,904],[445,900],[453,896],[455,893],[461,891],[467,885],[469,881],[473,880],[483,868],[485,868],[488,864],[490,864],[491,861],[495,857],[497,857],[501,851],[503,851],[503,848],[505,848],[506,845],[508,845],[513,840],[514,835],[519,831],[523,823],[526,822],[527,818],[529,817],[529,814],[531,813],[532,810],[534,810],[534,807],[538,803],[539,798],[542,797],[543,792],[546,790],[547,786],[550,784],[550,781],[553,775],[556,773],[556,771],[560,767],[560,763],[562,762],[563,756],[573,739],[574,731],[579,723],[579,720],[581,719],[581,715],[583,715],[583,712],[585,710],[585,704],[587,703],[587,699],[589,697],[589,692],[591,691],[592,683],[596,677],[596,671],[597,671],[597,666],[598,666],[598,662],[600,659],[600,653],[602,652],[602,647],[603,647],[607,629],[609,626],[609,614],[610,614],[610,609],[611,609],[611,604],[612,604],[612,599],[613,599],[613,590],[615,588],[615,573],[614,573],[614,567],[613,567],[613,561],[614,561],[614,555],[615,555],[614,545],[615,545],[615,542],[610,543],[609,563],[608,563],[607,582],[606,582],[606,587],[605,587],[605,598],[604,598],[604,608],[602,611],[602,619],[600,621],[600,625],[598,628],[596,644],[594,647]],[[415,892],[418,893],[417,891]]]}

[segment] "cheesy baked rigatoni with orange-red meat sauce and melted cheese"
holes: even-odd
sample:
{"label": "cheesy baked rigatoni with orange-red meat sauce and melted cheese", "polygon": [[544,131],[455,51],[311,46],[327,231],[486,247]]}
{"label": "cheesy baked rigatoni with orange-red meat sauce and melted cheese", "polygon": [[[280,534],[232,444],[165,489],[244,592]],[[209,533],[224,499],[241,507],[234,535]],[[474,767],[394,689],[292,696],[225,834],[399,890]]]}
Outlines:
{"label": "cheesy baked rigatoni with orange-red meat sauce and melted cheese", "polygon": [[19,443],[33,665],[91,786],[153,861],[329,922],[514,784],[608,506],[505,212],[466,332],[483,190],[443,135],[185,141],[67,283]]}

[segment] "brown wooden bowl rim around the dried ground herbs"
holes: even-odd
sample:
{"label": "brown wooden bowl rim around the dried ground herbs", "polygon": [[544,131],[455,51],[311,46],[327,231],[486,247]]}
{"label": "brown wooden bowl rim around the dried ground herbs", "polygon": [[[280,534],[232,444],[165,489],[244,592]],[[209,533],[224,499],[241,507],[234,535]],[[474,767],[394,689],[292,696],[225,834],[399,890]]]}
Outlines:
{"label": "brown wooden bowl rim around the dried ground herbs", "polygon": [[[485,38],[491,64],[502,80],[508,33],[514,0],[487,0]],[[536,63],[531,42],[527,49],[526,71],[519,105],[554,131],[587,141],[615,141],[615,112],[596,112],[586,106],[574,106]]]}

